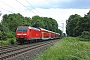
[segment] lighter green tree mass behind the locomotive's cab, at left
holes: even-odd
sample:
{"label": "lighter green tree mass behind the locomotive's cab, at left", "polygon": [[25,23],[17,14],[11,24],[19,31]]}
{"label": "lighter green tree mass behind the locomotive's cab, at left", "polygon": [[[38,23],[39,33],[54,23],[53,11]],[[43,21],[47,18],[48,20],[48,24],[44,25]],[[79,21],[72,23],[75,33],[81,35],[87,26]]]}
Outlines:
{"label": "lighter green tree mass behind the locomotive's cab, at left", "polygon": [[18,26],[22,25],[31,25],[31,20],[30,18],[23,17],[21,14],[5,14],[3,16],[2,24],[9,28],[12,32],[15,32],[15,29]]}

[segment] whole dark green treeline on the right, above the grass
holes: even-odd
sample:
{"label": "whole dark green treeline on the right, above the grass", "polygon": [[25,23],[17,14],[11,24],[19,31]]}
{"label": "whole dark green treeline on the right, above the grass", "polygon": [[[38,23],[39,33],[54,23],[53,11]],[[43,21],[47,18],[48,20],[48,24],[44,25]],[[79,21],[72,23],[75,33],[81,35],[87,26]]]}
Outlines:
{"label": "whole dark green treeline on the right, above the grass", "polygon": [[66,33],[68,36],[81,36],[90,39],[90,11],[81,17],[78,14],[71,15],[66,21]]}

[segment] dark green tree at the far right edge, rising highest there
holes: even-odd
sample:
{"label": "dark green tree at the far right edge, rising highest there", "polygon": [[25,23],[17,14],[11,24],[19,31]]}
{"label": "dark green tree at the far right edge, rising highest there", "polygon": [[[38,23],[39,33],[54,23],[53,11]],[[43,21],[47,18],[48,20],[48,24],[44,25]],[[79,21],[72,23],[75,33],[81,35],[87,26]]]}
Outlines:
{"label": "dark green tree at the far right edge, rising highest there", "polygon": [[83,31],[90,32],[90,11],[84,16],[77,23],[78,34],[79,36],[82,34]]}

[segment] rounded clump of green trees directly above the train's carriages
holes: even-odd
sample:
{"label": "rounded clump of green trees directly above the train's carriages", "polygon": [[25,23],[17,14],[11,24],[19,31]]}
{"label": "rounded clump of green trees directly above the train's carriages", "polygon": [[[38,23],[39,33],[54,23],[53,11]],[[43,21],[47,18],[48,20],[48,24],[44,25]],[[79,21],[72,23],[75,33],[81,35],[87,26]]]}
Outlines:
{"label": "rounded clump of green trees directly above the train's carriages", "polygon": [[32,26],[41,27],[50,31],[58,32],[58,23],[55,19],[48,17],[32,17]]}

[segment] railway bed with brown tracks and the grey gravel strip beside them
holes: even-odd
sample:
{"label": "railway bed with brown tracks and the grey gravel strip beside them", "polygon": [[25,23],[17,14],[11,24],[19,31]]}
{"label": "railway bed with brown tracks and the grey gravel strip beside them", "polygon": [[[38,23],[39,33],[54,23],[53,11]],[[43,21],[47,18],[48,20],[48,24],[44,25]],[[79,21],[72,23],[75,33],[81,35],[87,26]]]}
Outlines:
{"label": "railway bed with brown tracks and the grey gravel strip beside them", "polygon": [[0,49],[2,48],[2,51],[0,51],[0,60],[31,60],[37,54],[52,46],[52,42],[55,41],[57,40],[0,47]]}

